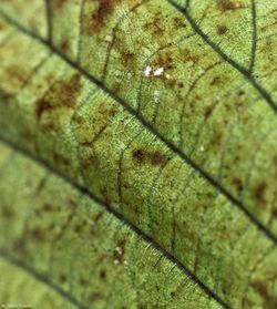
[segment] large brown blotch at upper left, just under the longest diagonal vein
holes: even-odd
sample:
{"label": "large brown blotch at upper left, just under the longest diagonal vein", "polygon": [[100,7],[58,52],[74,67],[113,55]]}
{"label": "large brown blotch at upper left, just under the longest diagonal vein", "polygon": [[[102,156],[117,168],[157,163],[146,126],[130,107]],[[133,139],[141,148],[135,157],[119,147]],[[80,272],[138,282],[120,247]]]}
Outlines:
{"label": "large brown blotch at upper left, just under the longest diagonal vein", "polygon": [[80,74],[75,73],[66,82],[59,82],[51,86],[44,97],[35,103],[35,114],[41,119],[47,111],[52,111],[58,107],[73,107],[76,95],[80,91]]}

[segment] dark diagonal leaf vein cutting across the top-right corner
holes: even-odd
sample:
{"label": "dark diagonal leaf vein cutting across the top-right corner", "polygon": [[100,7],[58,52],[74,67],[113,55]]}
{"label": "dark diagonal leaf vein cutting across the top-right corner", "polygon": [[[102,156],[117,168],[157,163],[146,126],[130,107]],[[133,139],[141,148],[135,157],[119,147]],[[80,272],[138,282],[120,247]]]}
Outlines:
{"label": "dark diagonal leaf vein cutting across the top-right corner", "polygon": [[[203,30],[197,25],[194,19],[188,13],[186,8],[175,3],[173,0],[166,0],[170,4],[172,4],[177,11],[179,11],[186,20],[189,22],[193,30],[206,42],[222,59],[224,59],[227,63],[229,63],[235,70],[237,70],[240,74],[243,74],[250,84],[259,92],[259,94],[265,99],[268,105],[273,109],[275,113],[277,113],[277,104],[273,100],[271,95],[264,89],[254,78],[253,74],[248,72],[244,66],[239,65],[236,61],[229,58],[218,45],[216,45],[209,37],[203,32]],[[256,49],[256,47],[255,47]]]}

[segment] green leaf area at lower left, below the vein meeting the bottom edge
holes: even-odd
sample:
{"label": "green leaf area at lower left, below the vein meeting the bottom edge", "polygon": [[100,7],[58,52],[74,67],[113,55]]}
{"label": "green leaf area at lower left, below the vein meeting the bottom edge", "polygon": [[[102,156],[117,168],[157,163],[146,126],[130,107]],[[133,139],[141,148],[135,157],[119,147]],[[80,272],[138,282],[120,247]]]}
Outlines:
{"label": "green leaf area at lower left, below the vein meeting the bottom edge", "polygon": [[[65,308],[122,308],[123,293],[125,308],[220,308],[184,269],[88,194],[3,143],[0,150],[0,192],[6,193],[0,267],[16,265],[1,278],[14,285],[10,302],[16,302],[16,291],[22,299],[24,280],[27,287],[29,280],[38,285],[34,277],[44,287],[41,293],[27,289],[24,303],[30,307],[41,305],[39,300],[50,308],[44,293],[52,290],[64,298]],[[22,276],[14,274],[16,267]],[[0,291],[7,302],[8,291]]]}

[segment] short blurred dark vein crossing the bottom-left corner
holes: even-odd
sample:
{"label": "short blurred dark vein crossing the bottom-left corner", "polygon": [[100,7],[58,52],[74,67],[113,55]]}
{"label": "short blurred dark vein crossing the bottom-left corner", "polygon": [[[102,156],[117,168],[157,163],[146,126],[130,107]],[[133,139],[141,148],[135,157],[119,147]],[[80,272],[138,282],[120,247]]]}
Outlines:
{"label": "short blurred dark vein crossing the bottom-left corner", "polygon": [[59,293],[63,299],[68,300],[70,303],[76,306],[76,308],[80,309],[88,309],[88,307],[83,306],[80,301],[78,301],[73,296],[71,296],[69,292],[66,292],[65,290],[61,289],[59,286],[57,286],[55,284],[51,282],[49,280],[49,278],[47,278],[45,276],[37,272],[32,267],[30,267],[29,265],[24,264],[22,260],[20,260],[19,258],[16,258],[13,256],[11,256],[9,253],[7,253],[3,249],[0,249],[0,258],[2,258],[3,260],[6,260],[7,262],[19,267],[20,269],[24,270],[27,274],[29,274],[30,276],[32,276],[34,279],[37,279],[38,281],[43,282],[48,288],[51,288],[52,290],[54,290],[57,293]]}

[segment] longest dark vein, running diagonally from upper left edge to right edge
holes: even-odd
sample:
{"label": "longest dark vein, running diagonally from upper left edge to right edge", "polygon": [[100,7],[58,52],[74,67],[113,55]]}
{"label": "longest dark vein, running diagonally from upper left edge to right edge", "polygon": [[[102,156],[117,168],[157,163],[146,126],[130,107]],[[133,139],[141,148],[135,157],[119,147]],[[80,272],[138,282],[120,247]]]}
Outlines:
{"label": "longest dark vein, running diagonally from upper left edge to right edge", "polygon": [[[171,1],[171,0],[167,0]],[[84,69],[80,68],[79,64],[74,61],[72,61],[66,55],[62,54],[55,47],[51,45],[48,41],[42,39],[41,37],[37,35],[33,32],[30,32],[28,29],[25,29],[23,25],[19,24],[17,21],[14,21],[12,18],[8,17],[6,13],[0,11],[0,17],[2,17],[7,22],[13,24],[16,28],[18,28],[19,31],[24,33],[25,35],[33,38],[34,40],[41,42],[45,47],[48,47],[50,50],[53,51],[60,59],[62,59],[64,62],[66,62],[69,65],[71,65],[74,70],[76,70],[80,74],[82,74],[84,78],[86,78],[90,82],[92,82],[94,85],[100,87],[103,92],[109,94],[115,102],[121,104],[131,115],[136,117],[137,121],[141,122],[141,124],[152,132],[161,142],[163,142],[168,148],[172,150],[175,154],[177,154],[187,165],[189,165],[192,168],[194,168],[203,178],[205,178],[211,185],[214,186],[215,189],[217,189],[219,193],[222,193],[227,199],[229,199],[230,203],[233,203],[238,209],[240,209],[248,218],[249,220],[261,231],[265,234],[265,236],[277,244],[277,236],[273,234],[270,229],[268,229],[263,223],[259,222],[255,217],[255,215],[249,212],[245,207],[245,205],[235,197],[232,193],[229,193],[225,187],[222,186],[220,183],[218,183],[216,179],[214,179],[212,176],[208,175],[207,172],[205,172],[198,164],[196,164],[187,154],[185,154],[178,146],[173,144],[168,138],[164,137],[151,123],[145,121],[140,114],[137,114],[136,110],[133,109],[131,105],[129,105],[124,99],[120,97],[114,93],[111,89],[109,89],[105,84],[103,84],[102,81],[98,80],[93,75],[91,75],[89,72],[86,72]]]}

